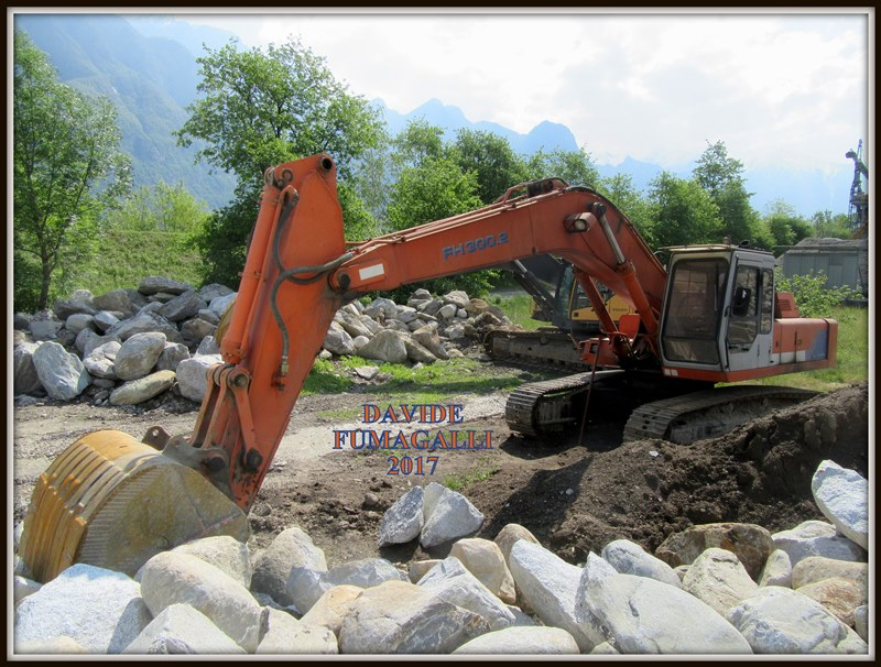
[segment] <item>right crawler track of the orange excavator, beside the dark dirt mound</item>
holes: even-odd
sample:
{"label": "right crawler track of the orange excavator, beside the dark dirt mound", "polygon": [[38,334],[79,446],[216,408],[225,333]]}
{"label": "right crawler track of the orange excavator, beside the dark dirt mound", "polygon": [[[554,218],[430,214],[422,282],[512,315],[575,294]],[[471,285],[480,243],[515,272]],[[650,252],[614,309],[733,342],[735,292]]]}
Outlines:
{"label": "right crawler track of the orange excavator, beside the dark dirt mound", "polygon": [[816,394],[787,386],[733,385],[653,401],[631,413],[624,441],[661,438],[687,445]]}

